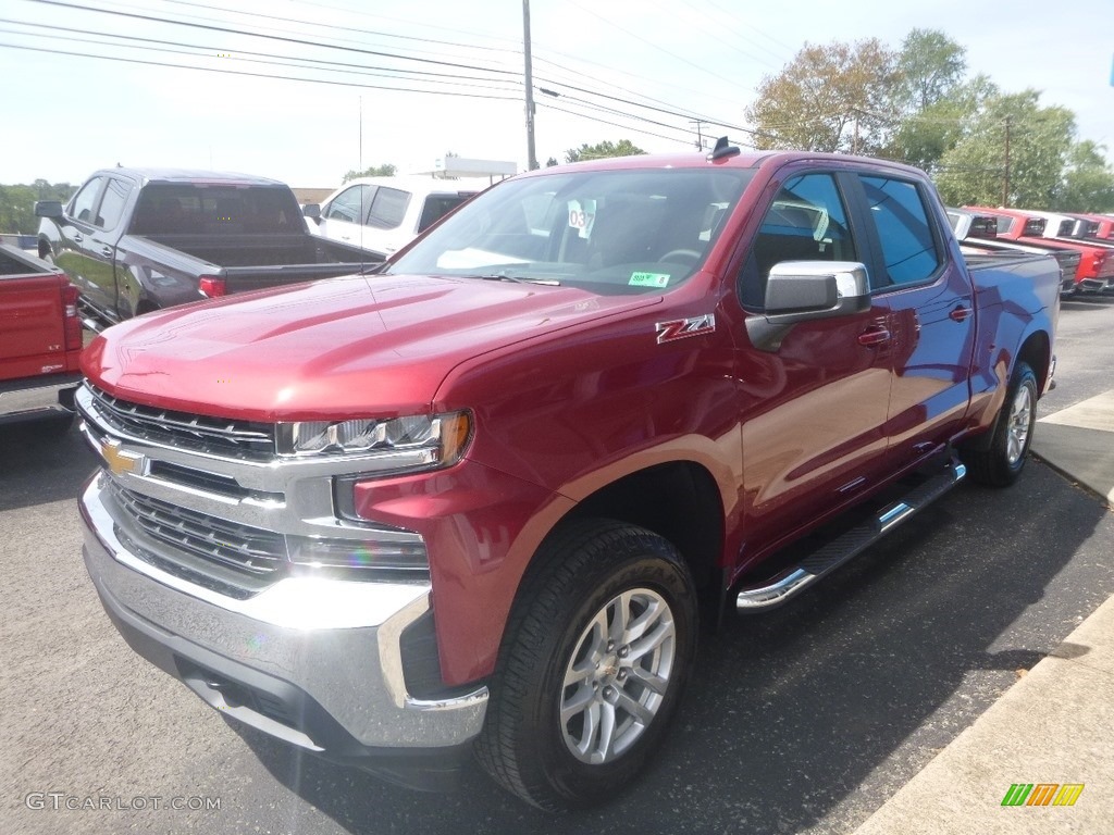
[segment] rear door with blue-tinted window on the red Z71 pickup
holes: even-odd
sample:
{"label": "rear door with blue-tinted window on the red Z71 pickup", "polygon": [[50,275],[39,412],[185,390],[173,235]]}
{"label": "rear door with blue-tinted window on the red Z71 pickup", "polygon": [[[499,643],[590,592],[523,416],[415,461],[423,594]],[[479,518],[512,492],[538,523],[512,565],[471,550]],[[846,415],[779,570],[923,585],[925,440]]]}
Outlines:
{"label": "rear door with blue-tinted window on the red Z71 pickup", "polygon": [[970,403],[975,303],[924,183],[858,177],[878,258],[876,295],[889,307],[892,370],[888,458],[897,468],[945,444]]}

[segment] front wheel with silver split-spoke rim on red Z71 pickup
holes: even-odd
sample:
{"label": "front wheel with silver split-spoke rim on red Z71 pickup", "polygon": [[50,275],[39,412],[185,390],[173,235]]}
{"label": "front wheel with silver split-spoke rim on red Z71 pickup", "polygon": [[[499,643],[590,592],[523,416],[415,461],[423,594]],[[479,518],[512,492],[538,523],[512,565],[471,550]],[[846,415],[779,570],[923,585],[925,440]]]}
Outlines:
{"label": "front wheel with silver split-spoke rim on red Z71 pickup", "polygon": [[696,593],[672,544],[619,522],[571,525],[536,559],[476,755],[524,800],[580,808],[629,786],[661,744],[696,652]]}

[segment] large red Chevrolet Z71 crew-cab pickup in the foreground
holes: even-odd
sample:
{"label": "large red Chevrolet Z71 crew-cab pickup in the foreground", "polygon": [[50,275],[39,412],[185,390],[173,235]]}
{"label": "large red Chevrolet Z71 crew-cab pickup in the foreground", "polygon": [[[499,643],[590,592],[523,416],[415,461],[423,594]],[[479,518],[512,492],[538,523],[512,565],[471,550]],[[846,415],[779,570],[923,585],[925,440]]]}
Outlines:
{"label": "large red Chevrolet Z71 crew-cab pickup in the foreground", "polygon": [[1058,287],[1048,256],[965,263],[927,177],[879,160],[521,175],[378,274],[98,336],[86,564],[225,716],[395,782],[475,750],[532,804],[603,802],[701,619],[1018,477]]}

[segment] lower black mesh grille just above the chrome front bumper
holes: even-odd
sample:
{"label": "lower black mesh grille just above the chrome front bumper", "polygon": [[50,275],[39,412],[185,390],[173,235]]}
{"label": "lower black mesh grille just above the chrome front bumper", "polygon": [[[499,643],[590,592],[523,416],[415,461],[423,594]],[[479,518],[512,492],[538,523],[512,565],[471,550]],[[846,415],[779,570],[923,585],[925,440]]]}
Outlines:
{"label": "lower black mesh grille just above the chrome front bumper", "polygon": [[286,564],[281,533],[178,508],[115,482],[110,489],[119,509],[157,542],[254,576],[273,574]]}

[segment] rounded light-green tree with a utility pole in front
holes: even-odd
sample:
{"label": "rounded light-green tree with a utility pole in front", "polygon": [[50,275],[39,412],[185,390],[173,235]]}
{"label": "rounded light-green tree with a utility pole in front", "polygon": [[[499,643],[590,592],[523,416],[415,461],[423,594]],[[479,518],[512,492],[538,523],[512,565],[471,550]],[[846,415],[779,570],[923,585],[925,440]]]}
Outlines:
{"label": "rounded light-green tree with a utility pole in front", "polygon": [[1054,205],[1075,116],[1064,107],[1042,107],[1039,98],[1030,89],[986,102],[965,136],[940,158],[936,183],[946,203]]}

